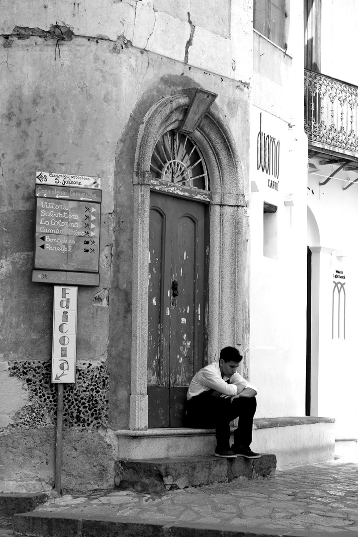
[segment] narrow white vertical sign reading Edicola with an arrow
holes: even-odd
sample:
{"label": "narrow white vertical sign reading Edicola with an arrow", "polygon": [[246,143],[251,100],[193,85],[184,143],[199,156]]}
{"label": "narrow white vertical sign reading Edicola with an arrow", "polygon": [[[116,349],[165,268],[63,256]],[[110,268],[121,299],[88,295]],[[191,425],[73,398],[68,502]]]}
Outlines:
{"label": "narrow white vertical sign reading Edicola with an arrow", "polygon": [[75,382],[76,330],[77,287],[55,285],[52,382]]}

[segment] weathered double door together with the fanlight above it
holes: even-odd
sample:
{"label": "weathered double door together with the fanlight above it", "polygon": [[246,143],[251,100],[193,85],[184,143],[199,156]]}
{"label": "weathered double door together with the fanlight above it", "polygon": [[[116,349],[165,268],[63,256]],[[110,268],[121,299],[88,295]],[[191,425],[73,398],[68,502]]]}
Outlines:
{"label": "weathered double door together with the fanlight above it", "polygon": [[210,185],[199,147],[178,130],[159,137],[150,170],[148,426],[180,427],[207,350],[209,199],[200,192],[209,198]]}

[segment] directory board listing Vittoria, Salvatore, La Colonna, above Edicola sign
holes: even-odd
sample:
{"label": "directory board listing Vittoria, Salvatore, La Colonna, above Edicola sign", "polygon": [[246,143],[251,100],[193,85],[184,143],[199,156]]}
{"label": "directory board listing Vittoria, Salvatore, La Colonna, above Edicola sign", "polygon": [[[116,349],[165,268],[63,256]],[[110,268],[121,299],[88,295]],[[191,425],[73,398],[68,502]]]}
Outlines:
{"label": "directory board listing Vittoria, Salvatore, La Colonna, above Edicola sign", "polygon": [[[102,199],[102,191],[98,188],[99,178],[38,172],[38,182],[41,184],[35,187],[35,269],[42,269],[46,273],[65,271],[65,279],[59,278],[59,283],[99,285],[99,277],[75,281],[77,272],[99,272]],[[92,184],[96,187],[63,186],[62,183]],[[32,281],[49,282],[47,274],[41,277],[35,272]],[[73,282],[70,281],[71,274]]]}

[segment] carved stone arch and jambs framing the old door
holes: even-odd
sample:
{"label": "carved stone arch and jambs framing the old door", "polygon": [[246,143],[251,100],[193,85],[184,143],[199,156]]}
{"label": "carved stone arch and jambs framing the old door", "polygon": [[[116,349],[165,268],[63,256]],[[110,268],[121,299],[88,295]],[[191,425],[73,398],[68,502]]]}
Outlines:
{"label": "carved stone arch and jambs framing the old door", "polygon": [[[155,144],[168,130],[179,129],[191,105],[184,92],[159,100],[143,118],[137,139],[133,174],[133,302],[131,341],[130,430],[148,427],[148,248],[150,161]],[[207,165],[210,191],[210,253],[208,296],[208,361],[218,359],[225,345],[248,352],[249,277],[248,219],[244,222],[244,182],[232,134],[220,115],[209,108],[191,134]],[[244,285],[245,279],[245,285]]]}

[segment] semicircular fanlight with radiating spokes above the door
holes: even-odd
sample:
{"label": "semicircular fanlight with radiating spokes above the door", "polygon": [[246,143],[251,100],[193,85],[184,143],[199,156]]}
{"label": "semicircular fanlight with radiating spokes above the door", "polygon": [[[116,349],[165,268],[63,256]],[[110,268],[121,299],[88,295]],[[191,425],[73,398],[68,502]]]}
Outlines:
{"label": "semicircular fanlight with radiating spokes above the door", "polygon": [[208,172],[198,146],[186,134],[169,130],[154,148],[150,171],[153,179],[210,190]]}

